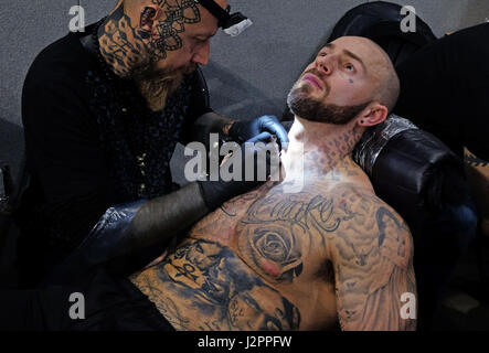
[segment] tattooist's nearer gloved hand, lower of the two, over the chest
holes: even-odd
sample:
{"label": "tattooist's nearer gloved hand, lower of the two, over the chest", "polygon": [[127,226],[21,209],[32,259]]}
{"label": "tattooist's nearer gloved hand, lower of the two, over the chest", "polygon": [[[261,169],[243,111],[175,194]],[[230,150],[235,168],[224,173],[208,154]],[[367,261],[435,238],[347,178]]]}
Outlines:
{"label": "tattooist's nearer gloved hand, lower of the two, over the chest", "polygon": [[[255,145],[257,142],[263,143]],[[221,165],[217,181],[198,181],[201,185],[204,202],[210,211],[215,210],[225,201],[262,185],[270,175],[278,172],[278,149],[277,147],[274,147],[272,150],[267,149],[269,145],[267,147],[266,143],[269,142],[273,142],[269,132],[262,132],[255,136],[253,139],[241,146],[240,156],[232,156],[228,159],[231,165],[226,165],[226,162]],[[267,153],[266,150],[272,153]],[[234,161],[231,163],[232,159],[234,159]],[[224,180],[222,178],[223,170],[225,169],[233,172],[234,168],[241,168],[241,172],[236,172],[240,174],[240,180],[235,180],[234,178],[228,181]],[[246,173],[246,171],[248,171],[248,173]],[[253,171],[253,173],[251,173],[251,171]]]}

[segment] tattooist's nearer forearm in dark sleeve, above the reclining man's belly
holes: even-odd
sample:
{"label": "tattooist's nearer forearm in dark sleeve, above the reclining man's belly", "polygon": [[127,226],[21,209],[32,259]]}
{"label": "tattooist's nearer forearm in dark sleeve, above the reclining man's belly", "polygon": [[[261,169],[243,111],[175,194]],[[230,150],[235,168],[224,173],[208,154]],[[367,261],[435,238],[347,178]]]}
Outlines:
{"label": "tattooist's nearer forearm in dark sleeve, above the reclining man's belly", "polygon": [[181,234],[206,213],[198,183],[151,201],[110,207],[50,282],[68,282],[94,267],[137,257]]}

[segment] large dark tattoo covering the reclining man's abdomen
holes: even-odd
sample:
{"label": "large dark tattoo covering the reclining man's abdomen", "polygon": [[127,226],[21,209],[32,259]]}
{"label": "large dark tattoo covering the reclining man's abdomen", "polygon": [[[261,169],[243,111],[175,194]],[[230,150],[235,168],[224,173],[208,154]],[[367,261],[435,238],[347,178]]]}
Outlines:
{"label": "large dark tattoo covering the reclining man's abdomen", "polygon": [[[299,310],[291,302],[217,243],[185,240],[134,282],[158,309],[168,308],[170,297],[179,302],[176,307],[191,308],[190,313],[194,312],[199,322],[194,329],[294,330],[300,324]],[[147,282],[159,284],[160,291],[141,285]],[[177,320],[176,310],[160,311],[172,323],[181,321]]]}

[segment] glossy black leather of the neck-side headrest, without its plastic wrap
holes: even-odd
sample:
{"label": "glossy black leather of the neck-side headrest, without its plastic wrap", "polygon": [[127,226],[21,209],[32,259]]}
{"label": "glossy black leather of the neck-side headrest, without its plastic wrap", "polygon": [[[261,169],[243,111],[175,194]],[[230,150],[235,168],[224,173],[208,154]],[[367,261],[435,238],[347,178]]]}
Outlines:
{"label": "glossy black leather of the neck-side headrest, without its plastic wrap", "polygon": [[429,132],[414,129],[389,141],[371,175],[378,195],[410,224],[424,221],[446,202],[459,202],[454,188],[463,189],[464,179],[463,161]]}

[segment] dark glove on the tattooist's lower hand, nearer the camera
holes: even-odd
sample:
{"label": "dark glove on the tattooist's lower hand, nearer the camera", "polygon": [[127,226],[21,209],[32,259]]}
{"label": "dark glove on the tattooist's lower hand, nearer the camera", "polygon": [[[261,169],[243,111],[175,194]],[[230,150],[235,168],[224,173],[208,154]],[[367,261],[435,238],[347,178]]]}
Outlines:
{"label": "dark glove on the tattooist's lower hand, nearer the camera", "polygon": [[[224,181],[221,179],[221,176],[219,181],[210,181],[210,180],[198,181],[198,183],[201,185],[202,196],[204,199],[204,202],[211,211],[217,208],[224,202],[237,195],[252,191],[253,189],[265,183],[266,180],[258,180],[257,171],[266,170],[267,179],[270,174],[277,172],[279,168],[278,150],[277,149],[274,150],[276,152],[276,156],[274,158],[272,158],[269,153],[266,153],[266,158],[258,158],[259,157],[258,154],[265,154],[263,152],[258,153],[261,150],[265,149],[265,146],[254,145],[257,142],[268,143],[270,141],[272,141],[272,135],[269,132],[262,132],[255,136],[253,139],[246,141],[247,143],[243,143],[241,146],[241,167],[242,167],[241,181],[234,181],[234,180]],[[249,159],[249,161],[246,161],[246,156],[247,154],[252,156],[251,152],[246,153],[246,150],[253,150],[253,149],[254,149],[253,160]],[[246,181],[245,178],[246,163],[249,164],[253,163],[254,165],[253,181]],[[221,170],[223,170],[223,168],[226,168],[226,165],[221,167]]]}

